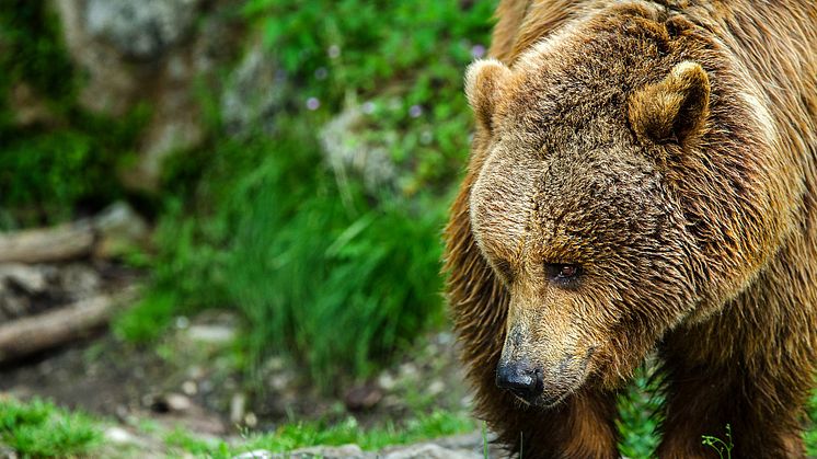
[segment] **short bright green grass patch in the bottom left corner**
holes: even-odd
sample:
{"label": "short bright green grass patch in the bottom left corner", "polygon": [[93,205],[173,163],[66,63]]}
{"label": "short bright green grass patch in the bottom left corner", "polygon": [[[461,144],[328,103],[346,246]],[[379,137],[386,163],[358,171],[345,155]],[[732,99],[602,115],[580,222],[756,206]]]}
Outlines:
{"label": "short bright green grass patch in the bottom left corner", "polygon": [[0,445],[23,457],[82,456],[101,444],[99,424],[41,399],[0,398]]}

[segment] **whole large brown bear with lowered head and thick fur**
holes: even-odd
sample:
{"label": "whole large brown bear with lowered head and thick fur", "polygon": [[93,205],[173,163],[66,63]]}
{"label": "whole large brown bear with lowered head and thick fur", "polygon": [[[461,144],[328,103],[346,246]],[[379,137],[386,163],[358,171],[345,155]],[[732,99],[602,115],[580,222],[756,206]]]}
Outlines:
{"label": "whole large brown bear with lowered head and thick fur", "polygon": [[663,365],[661,458],[804,457],[817,363],[817,2],[502,0],[446,229],[477,414],[612,458]]}

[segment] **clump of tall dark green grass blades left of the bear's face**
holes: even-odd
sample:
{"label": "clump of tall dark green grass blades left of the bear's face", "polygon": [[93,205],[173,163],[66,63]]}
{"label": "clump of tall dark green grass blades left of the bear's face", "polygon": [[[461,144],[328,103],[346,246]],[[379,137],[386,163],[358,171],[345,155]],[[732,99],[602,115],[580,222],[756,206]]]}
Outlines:
{"label": "clump of tall dark green grass blades left of the bear's face", "polygon": [[[275,162],[273,177],[289,172]],[[292,349],[325,386],[344,369],[368,374],[439,320],[441,215],[398,202],[367,208],[352,192],[355,210],[326,171],[312,173],[311,193],[265,176],[239,197],[252,204],[238,221],[227,286],[253,324],[251,348]]]}

